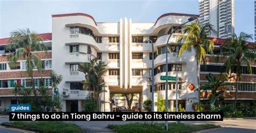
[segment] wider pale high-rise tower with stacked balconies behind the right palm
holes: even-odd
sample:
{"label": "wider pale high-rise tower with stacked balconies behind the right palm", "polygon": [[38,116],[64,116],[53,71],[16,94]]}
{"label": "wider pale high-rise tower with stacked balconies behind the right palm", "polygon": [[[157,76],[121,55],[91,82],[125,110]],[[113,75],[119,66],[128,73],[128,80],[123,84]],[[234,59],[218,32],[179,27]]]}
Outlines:
{"label": "wider pale high-rise tower with stacked balconies behind the right palm", "polygon": [[199,0],[199,21],[210,23],[219,38],[230,38],[234,33],[234,0]]}

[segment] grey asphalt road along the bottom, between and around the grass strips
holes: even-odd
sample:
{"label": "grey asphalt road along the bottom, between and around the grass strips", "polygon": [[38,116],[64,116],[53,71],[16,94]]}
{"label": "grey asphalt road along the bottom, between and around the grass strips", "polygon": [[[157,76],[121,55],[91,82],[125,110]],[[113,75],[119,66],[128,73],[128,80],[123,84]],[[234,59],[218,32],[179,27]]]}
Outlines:
{"label": "grey asphalt road along the bottom, between and around the grass strips", "polygon": [[[0,117],[0,123],[2,122],[9,122],[9,118]],[[136,121],[133,121],[136,122]],[[70,123],[75,123],[79,125],[80,127],[84,129],[90,129],[91,131],[103,131],[103,132],[109,132],[111,130],[106,129],[105,127],[109,124],[127,124],[130,122],[119,122],[119,121],[70,121]],[[144,122],[143,122],[144,123]],[[150,122],[149,122],[150,123]],[[160,123],[160,122],[158,122]],[[209,122],[202,122],[202,121],[187,121],[183,122],[185,124],[216,124],[220,125],[223,128],[220,129],[214,129],[214,130],[204,130],[199,132],[248,132],[248,133],[255,133],[256,132],[256,120],[254,119],[235,119],[235,120],[228,120],[225,119],[224,121],[209,121]],[[0,129],[0,133],[2,129]]]}

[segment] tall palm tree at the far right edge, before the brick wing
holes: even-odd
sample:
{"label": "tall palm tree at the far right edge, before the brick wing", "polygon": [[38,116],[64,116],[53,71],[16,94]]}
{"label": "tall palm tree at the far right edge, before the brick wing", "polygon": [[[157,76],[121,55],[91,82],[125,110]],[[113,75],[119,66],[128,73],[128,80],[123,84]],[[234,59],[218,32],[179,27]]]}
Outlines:
{"label": "tall palm tree at the far right edge, before the brick wing", "polygon": [[239,37],[237,34],[233,34],[230,39],[227,39],[223,46],[223,52],[218,53],[217,61],[219,58],[226,57],[224,66],[226,67],[226,73],[231,74],[234,72],[236,76],[235,87],[235,101],[234,111],[237,108],[237,91],[238,91],[238,80],[241,80],[241,65],[247,66],[248,73],[252,73],[251,64],[256,62],[256,54],[250,50],[250,47],[255,47],[255,44],[248,43],[252,40],[250,34],[241,32]]}

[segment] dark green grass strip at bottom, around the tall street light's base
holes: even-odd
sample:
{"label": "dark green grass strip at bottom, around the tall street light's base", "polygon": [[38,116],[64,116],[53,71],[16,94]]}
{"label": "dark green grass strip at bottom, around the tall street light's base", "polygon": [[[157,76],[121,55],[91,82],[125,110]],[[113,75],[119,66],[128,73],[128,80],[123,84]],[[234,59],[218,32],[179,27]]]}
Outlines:
{"label": "dark green grass strip at bottom, around the tall street light's base", "polygon": [[164,130],[164,123],[155,123],[154,125],[146,123],[130,123],[124,125],[108,125],[108,128],[114,132],[191,132],[195,129],[219,127],[213,124],[187,125],[184,123],[169,123],[168,131]]}

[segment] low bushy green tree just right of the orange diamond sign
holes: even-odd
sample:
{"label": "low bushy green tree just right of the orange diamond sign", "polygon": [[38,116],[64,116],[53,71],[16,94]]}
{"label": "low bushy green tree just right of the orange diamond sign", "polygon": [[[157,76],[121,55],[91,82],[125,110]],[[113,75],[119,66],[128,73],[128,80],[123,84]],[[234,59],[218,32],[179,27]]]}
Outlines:
{"label": "low bushy green tree just right of the orange diamond sign", "polygon": [[221,94],[225,92],[225,89],[231,85],[231,83],[225,82],[226,80],[230,79],[232,77],[227,77],[226,75],[221,75],[218,78],[215,78],[215,76],[212,73],[209,73],[206,75],[207,83],[203,83],[203,85],[200,86],[201,90],[208,90],[211,89],[211,94],[209,96],[209,103],[211,105],[211,110],[215,109],[215,104],[218,99],[224,99]]}

